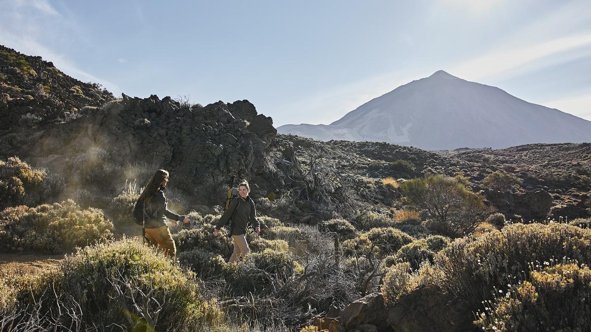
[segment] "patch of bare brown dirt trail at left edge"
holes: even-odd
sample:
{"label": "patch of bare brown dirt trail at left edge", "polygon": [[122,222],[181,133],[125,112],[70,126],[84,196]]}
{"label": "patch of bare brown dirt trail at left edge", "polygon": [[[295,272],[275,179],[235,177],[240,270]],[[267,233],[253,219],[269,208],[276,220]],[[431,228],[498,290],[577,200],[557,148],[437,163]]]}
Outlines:
{"label": "patch of bare brown dirt trail at left edge", "polygon": [[40,274],[51,271],[64,255],[0,253],[0,275]]}

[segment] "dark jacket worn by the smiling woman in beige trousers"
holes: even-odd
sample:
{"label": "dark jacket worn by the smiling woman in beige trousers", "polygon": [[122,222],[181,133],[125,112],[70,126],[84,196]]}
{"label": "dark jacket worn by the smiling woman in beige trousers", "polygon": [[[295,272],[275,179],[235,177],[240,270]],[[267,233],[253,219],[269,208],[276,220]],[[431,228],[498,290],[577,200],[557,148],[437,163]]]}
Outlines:
{"label": "dark jacket worn by the smiling woman in beige trousers", "polygon": [[231,200],[228,210],[222,214],[216,228],[220,229],[226,226],[230,218],[232,218],[232,235],[246,234],[246,227],[249,223],[255,229],[261,227],[261,223],[256,219],[255,202],[250,196],[246,196],[246,199],[236,197]]}

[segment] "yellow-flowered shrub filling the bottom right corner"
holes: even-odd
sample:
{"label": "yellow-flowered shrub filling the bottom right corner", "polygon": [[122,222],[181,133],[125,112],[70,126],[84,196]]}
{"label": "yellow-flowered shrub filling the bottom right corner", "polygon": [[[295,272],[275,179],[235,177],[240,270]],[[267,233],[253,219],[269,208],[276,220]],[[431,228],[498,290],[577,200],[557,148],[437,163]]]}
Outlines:
{"label": "yellow-flowered shrub filling the bottom right corner", "polygon": [[[532,271],[530,281],[510,287],[477,316],[483,330],[591,330],[591,271],[587,266],[558,264]],[[543,324],[543,325],[541,325]]]}

